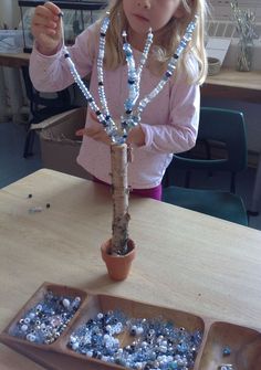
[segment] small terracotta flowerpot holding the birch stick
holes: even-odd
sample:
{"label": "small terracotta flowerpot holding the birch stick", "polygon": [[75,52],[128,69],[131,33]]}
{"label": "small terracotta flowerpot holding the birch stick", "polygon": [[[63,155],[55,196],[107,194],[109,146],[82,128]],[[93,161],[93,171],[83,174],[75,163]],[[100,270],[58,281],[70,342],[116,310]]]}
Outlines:
{"label": "small terracotta flowerpot holding the birch stick", "polygon": [[124,281],[128,276],[132,262],[136,254],[134,241],[132,239],[128,240],[129,252],[125,255],[109,254],[111,246],[111,239],[101,246],[102,257],[106,264],[108,276],[113,281]]}

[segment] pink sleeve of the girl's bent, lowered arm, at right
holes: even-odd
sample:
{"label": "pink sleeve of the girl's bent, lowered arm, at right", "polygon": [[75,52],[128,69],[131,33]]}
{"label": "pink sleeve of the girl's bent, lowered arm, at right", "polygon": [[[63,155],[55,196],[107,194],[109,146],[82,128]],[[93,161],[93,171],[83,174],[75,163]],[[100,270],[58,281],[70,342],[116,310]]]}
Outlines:
{"label": "pink sleeve of the girl's bent, lowered arm, at right", "polygon": [[197,139],[200,108],[200,87],[189,85],[185,76],[173,83],[169,95],[169,120],[163,125],[142,123],[145,148],[158,152],[182,152],[191,149]]}

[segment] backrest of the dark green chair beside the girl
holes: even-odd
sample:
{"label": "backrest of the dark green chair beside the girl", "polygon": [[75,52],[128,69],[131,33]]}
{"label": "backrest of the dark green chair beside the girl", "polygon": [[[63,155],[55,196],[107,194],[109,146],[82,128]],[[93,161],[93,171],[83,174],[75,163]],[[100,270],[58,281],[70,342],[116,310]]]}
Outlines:
{"label": "backrest of the dark green chair beside the girl", "polygon": [[[241,112],[201,107],[197,142],[220,146],[222,158],[195,158],[192,150],[174,155],[173,166],[180,169],[207,169],[238,172],[247,168],[247,138]],[[208,156],[210,157],[210,156]]]}

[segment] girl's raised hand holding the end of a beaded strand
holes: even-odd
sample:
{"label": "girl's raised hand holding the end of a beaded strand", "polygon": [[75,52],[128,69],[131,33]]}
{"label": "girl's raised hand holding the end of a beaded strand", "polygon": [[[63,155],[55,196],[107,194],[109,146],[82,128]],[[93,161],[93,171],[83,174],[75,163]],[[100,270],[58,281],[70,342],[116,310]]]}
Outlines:
{"label": "girl's raised hand holding the end of a beaded strand", "polygon": [[38,43],[38,50],[44,55],[56,52],[61,40],[61,9],[52,2],[38,6],[32,18],[32,34]]}

